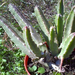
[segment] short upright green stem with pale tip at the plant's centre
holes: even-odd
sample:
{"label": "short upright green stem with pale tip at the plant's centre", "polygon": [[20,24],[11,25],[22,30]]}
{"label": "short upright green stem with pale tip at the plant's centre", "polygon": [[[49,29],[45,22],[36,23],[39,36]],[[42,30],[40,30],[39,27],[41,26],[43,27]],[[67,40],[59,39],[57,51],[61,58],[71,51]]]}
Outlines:
{"label": "short upright green stem with pale tip at the plant's centre", "polygon": [[55,28],[53,26],[50,27],[50,51],[54,56],[58,54],[58,44],[56,39]]}

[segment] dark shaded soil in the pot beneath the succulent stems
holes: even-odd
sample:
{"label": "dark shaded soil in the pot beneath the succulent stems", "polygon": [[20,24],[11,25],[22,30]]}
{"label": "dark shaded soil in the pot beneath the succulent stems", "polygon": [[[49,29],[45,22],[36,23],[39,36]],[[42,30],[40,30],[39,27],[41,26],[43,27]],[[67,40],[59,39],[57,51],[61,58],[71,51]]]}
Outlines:
{"label": "dark shaded soil in the pot beneath the succulent stems", "polygon": [[[31,59],[29,59],[28,61],[29,61],[28,67],[31,67],[33,62],[31,62]],[[39,63],[36,63],[35,65],[38,67],[42,66]],[[75,51],[73,51],[72,54],[68,58],[64,59],[63,67],[65,68],[65,73],[58,74],[58,72],[44,67],[45,73],[39,74],[39,75],[75,75]],[[31,75],[35,75],[35,74],[33,72],[31,72]]]}

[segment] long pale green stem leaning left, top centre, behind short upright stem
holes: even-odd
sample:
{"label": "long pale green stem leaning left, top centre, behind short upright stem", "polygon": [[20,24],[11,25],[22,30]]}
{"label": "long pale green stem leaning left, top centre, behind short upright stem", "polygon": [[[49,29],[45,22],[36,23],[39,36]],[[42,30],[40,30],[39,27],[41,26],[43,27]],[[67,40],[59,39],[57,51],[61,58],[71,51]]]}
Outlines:
{"label": "long pale green stem leaning left, top centre, behind short upright stem", "polygon": [[39,23],[39,26],[41,27],[43,36],[44,36],[45,40],[47,41],[47,43],[49,44],[50,24],[48,23],[43,12],[41,11],[41,9],[38,6],[35,6],[34,11],[35,11],[36,19]]}

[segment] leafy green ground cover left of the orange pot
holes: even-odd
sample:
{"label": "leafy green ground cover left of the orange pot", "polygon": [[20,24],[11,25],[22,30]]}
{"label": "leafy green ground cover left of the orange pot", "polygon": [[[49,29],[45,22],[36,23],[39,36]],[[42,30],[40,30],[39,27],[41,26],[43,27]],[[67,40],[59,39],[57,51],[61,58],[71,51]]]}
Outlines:
{"label": "leafy green ground cover left of the orange pot", "polygon": [[0,75],[27,74],[24,69],[24,55],[17,48],[9,50],[0,39]]}

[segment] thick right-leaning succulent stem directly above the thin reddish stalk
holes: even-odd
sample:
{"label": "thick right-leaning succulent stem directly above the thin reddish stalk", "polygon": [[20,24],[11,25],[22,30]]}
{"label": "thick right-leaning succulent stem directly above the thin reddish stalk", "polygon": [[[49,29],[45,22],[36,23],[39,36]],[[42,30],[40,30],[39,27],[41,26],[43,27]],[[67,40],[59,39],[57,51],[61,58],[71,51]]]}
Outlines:
{"label": "thick right-leaning succulent stem directly above the thin reddish stalk", "polygon": [[65,40],[58,58],[67,58],[75,48],[75,32],[71,33]]}

